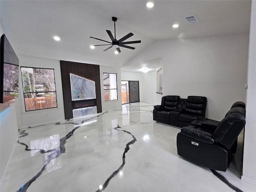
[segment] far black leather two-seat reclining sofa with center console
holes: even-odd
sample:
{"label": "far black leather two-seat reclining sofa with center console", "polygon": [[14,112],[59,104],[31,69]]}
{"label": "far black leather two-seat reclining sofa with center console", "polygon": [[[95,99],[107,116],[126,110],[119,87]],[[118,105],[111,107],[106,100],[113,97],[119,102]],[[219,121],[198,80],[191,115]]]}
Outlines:
{"label": "far black leather two-seat reclining sofa with center console", "polygon": [[205,119],[207,98],[202,96],[163,96],[161,105],[154,106],[153,120],[176,126],[188,126],[194,120]]}

